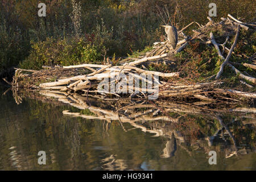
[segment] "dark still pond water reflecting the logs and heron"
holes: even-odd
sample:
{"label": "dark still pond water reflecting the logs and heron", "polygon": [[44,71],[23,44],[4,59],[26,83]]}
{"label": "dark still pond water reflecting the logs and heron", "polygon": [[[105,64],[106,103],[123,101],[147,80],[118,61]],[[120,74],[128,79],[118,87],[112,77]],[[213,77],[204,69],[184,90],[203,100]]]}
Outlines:
{"label": "dark still pond water reflecting the logs and heron", "polygon": [[[256,169],[255,113],[215,112],[216,119],[174,107],[157,114],[154,106],[153,115],[143,107],[133,117],[125,110],[119,119],[102,119],[96,114],[110,115],[99,109],[109,101],[83,109],[27,91],[3,94],[7,89],[0,87],[1,170]],[[46,165],[38,164],[39,151]],[[217,164],[209,164],[209,151],[216,151]]]}

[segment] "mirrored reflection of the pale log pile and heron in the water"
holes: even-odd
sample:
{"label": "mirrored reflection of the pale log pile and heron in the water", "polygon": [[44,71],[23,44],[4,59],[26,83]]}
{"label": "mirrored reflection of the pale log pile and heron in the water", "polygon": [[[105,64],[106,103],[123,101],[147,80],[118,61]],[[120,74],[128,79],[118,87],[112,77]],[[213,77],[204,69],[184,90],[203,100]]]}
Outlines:
{"label": "mirrored reflection of the pale log pile and heron in the water", "polygon": [[[184,144],[184,142],[187,142],[186,134],[179,132],[182,130],[179,130],[179,128],[176,127],[177,123],[183,121],[180,118],[189,118],[191,115],[193,115],[193,117],[200,116],[208,119],[209,123],[212,123],[211,119],[217,119],[216,115],[233,113],[233,115],[236,116],[236,119],[226,125],[224,122],[220,122],[220,124],[222,127],[225,127],[227,134],[229,134],[233,143],[236,143],[236,135],[234,135],[232,133],[233,131],[231,129],[229,130],[228,127],[230,127],[234,122],[240,121],[241,118],[245,118],[246,121],[247,119],[250,119],[247,123],[253,123],[253,121],[255,121],[256,113],[254,108],[246,107],[212,109],[212,107],[207,106],[195,106],[193,104],[168,101],[136,101],[133,103],[127,99],[119,99],[118,101],[99,101],[99,99],[87,98],[74,93],[67,94],[66,92],[60,92],[58,90],[41,90],[39,93],[45,96],[42,97],[44,100],[46,98],[56,98],[60,102],[86,111],[82,113],[88,113],[81,114],[80,111],[71,112],[64,110],[63,114],[66,116],[82,117],[85,119],[106,122],[107,125],[105,131],[108,130],[108,126],[111,125],[112,121],[119,121],[124,131],[131,130],[126,129],[127,125],[123,125],[123,123],[129,123],[133,129],[139,129],[145,133],[150,133],[152,134],[152,137],[166,138],[167,141],[163,147],[161,155],[163,158],[175,155],[176,150],[179,150],[180,148],[191,155],[191,148],[188,148]],[[40,99],[40,97],[37,97],[37,99]],[[147,122],[144,123],[144,121]],[[241,121],[242,124],[247,124],[243,120]],[[148,127],[148,125],[150,127]],[[216,145],[217,138],[220,137],[219,135],[221,131],[222,129],[217,127],[216,133],[213,134],[212,137],[205,136],[205,140],[209,140],[209,145],[207,145],[207,141],[200,139],[197,139],[196,144],[199,144],[201,147],[203,146],[205,151],[209,151],[210,147]],[[215,138],[216,140],[214,140]],[[226,147],[228,150],[226,151],[227,158],[234,154],[246,154],[246,151],[237,150],[236,146],[230,146],[229,142],[226,142],[226,144],[228,145],[228,147]]]}

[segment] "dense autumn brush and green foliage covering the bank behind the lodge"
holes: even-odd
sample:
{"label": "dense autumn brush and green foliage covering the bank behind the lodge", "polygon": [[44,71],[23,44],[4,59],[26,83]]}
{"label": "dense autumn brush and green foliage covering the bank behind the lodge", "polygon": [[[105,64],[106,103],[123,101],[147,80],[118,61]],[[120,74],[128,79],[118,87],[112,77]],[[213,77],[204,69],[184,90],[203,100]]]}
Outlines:
{"label": "dense autumn brush and green foliage covering the bank behind the lodge", "polygon": [[[205,23],[210,3],[208,0],[192,0],[189,3],[185,0],[93,0],[76,1],[81,3],[73,6],[72,2],[75,1],[46,0],[47,18],[39,18],[34,9],[38,5],[38,1],[1,1],[0,71],[24,60],[31,46],[34,46],[30,50],[31,55],[22,63],[22,66],[26,68],[40,69],[44,63],[69,65],[88,61],[95,62],[99,55],[104,55],[105,51],[107,52],[106,56],[113,56],[115,53],[119,57],[129,53],[136,57],[139,56],[139,53],[134,50],[141,51],[144,47],[163,40],[164,29],[160,25],[164,22],[158,16],[156,5],[160,9],[167,5],[170,15],[175,15],[176,7],[174,5],[176,6],[177,2],[181,16],[172,18],[175,19],[174,23],[180,29],[192,21]],[[226,17],[227,13],[230,13],[235,17],[241,17],[244,22],[254,20],[254,1],[217,0],[215,3],[218,7],[218,19]],[[6,26],[3,26],[4,22],[6,22]],[[17,30],[16,27],[18,27]],[[193,26],[189,28],[193,28]],[[241,32],[242,36],[244,34],[246,32]],[[79,46],[78,40],[72,41],[73,36],[76,36],[77,39],[85,39],[86,44]],[[221,34],[216,34],[216,36],[221,36]],[[246,55],[251,55],[256,49],[255,32],[251,36],[243,37],[242,40],[249,40],[249,42],[248,46],[243,48],[244,50],[242,48],[240,50],[245,51]],[[51,43],[51,40],[47,38],[52,39],[52,48],[49,48],[47,42]],[[68,43],[65,42],[66,40]],[[218,41],[223,42],[223,40]],[[2,42],[9,42],[9,44]],[[46,45],[43,45],[43,42]],[[36,44],[40,48],[43,46],[43,50],[40,51]],[[87,44],[89,46],[86,46]],[[251,44],[254,46],[251,47]],[[95,49],[101,51],[95,51]],[[43,55],[43,51],[48,52]],[[75,53],[75,51],[77,52]],[[208,50],[208,52],[212,51]],[[37,57],[36,53],[39,53],[40,57]],[[71,53],[71,55],[65,55],[67,53]],[[182,52],[180,54],[185,56]],[[195,56],[195,59],[197,58]],[[205,61],[203,60],[201,63],[205,63]],[[212,60],[210,64],[213,71],[215,68],[212,67],[212,64],[216,64],[216,59]],[[201,69],[206,71],[209,67],[203,66]]]}

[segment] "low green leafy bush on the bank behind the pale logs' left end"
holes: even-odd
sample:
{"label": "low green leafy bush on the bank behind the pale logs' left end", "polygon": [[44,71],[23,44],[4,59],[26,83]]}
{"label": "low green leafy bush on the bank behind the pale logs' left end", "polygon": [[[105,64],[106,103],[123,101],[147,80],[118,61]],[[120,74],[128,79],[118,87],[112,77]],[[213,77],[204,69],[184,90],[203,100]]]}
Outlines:
{"label": "low green leafy bush on the bank behind the pale logs' left end", "polygon": [[24,69],[42,69],[42,65],[75,65],[97,63],[100,53],[84,39],[55,40],[47,38],[44,42],[31,42],[32,50],[26,60],[20,62]]}

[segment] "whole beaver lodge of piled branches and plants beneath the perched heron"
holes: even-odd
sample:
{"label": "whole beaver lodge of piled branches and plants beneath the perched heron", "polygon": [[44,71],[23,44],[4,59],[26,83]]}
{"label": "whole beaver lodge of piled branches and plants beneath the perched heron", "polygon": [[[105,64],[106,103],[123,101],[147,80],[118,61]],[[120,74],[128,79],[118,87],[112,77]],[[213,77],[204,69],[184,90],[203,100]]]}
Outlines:
{"label": "whole beaver lodge of piled branches and plants beneath the perched heron", "polygon": [[[65,98],[84,96],[87,100],[88,97],[117,100],[130,97],[141,100],[158,92],[158,100],[197,105],[254,105],[256,53],[247,48],[251,43],[255,48],[255,40],[250,36],[255,38],[256,23],[243,23],[232,15],[221,18],[220,22],[208,19],[205,25],[192,22],[179,30],[176,49],[166,41],[154,43],[154,47],[136,57],[112,62],[104,59],[104,64],[45,66],[40,71],[17,68],[13,80],[7,82],[16,88],[40,90],[45,96]],[[192,24],[198,28],[186,35],[184,32]],[[150,75],[150,79],[143,74]],[[98,89],[104,79],[112,79],[108,82],[109,88],[113,82],[128,85],[129,75],[140,82],[137,86],[135,82],[133,86],[127,86],[126,93],[120,92],[122,86],[115,92]],[[155,76],[159,77],[159,82]],[[141,88],[143,81],[151,84],[150,92]],[[158,89],[153,82],[158,83]]]}

